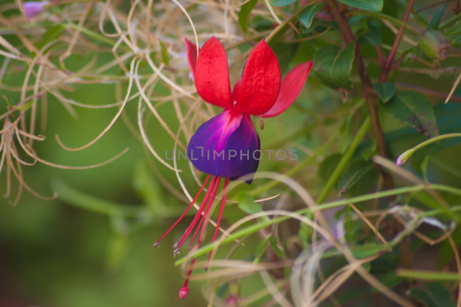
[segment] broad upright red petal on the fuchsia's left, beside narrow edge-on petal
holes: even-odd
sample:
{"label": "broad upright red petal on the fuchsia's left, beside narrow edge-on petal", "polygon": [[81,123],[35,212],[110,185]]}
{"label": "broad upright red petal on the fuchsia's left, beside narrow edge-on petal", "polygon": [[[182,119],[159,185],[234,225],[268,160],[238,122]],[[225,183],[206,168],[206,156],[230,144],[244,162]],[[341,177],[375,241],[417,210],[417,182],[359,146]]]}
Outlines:
{"label": "broad upright red petal on the fuchsia's left, beside narrow edge-on petal", "polygon": [[200,49],[195,66],[195,88],[203,100],[223,108],[233,108],[229,67],[223,45],[212,36]]}

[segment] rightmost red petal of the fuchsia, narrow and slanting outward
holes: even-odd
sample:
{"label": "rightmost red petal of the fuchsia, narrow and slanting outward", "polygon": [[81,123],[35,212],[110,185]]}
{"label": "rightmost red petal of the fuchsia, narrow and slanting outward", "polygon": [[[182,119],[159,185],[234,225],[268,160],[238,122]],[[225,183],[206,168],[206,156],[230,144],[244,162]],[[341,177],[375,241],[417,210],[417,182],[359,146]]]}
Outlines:
{"label": "rightmost red petal of the fuchsia, narrow and slanting outward", "polygon": [[267,111],[262,117],[273,117],[284,112],[299,93],[306,83],[307,75],[312,68],[312,60],[306,63],[302,63],[295,68],[293,68],[282,80],[280,85],[280,92],[278,93],[277,101],[275,101],[274,106]]}

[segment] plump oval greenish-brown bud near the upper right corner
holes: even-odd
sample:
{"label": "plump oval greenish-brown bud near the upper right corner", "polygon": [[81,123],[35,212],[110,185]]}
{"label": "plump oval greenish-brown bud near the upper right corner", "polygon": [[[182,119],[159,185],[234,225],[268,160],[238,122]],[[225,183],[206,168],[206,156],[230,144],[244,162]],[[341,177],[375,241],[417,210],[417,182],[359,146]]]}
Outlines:
{"label": "plump oval greenish-brown bud near the upper right corner", "polygon": [[418,45],[431,59],[444,60],[448,58],[451,51],[450,41],[438,30],[425,31],[421,35]]}

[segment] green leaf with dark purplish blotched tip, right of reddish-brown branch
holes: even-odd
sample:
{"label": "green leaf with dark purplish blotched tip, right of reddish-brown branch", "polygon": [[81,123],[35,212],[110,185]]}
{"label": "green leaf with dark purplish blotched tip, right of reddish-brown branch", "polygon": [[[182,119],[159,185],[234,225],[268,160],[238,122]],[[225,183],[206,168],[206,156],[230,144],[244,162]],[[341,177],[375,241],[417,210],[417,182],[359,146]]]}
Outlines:
{"label": "green leaf with dark purplish blotched tip, right of reddish-brown branch", "polygon": [[426,136],[438,136],[436,118],[426,96],[417,92],[397,92],[387,103],[381,103],[384,110],[402,123],[413,127]]}

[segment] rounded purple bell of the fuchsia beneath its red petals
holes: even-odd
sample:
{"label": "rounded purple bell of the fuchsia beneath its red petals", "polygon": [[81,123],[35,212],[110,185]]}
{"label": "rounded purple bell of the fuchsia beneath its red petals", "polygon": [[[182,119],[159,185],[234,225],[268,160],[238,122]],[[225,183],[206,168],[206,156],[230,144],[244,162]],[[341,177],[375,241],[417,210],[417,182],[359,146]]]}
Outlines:
{"label": "rounded purple bell of the fuchsia beneath its red petals", "polygon": [[235,180],[258,169],[260,141],[249,116],[225,110],[199,127],[187,152],[199,171]]}

